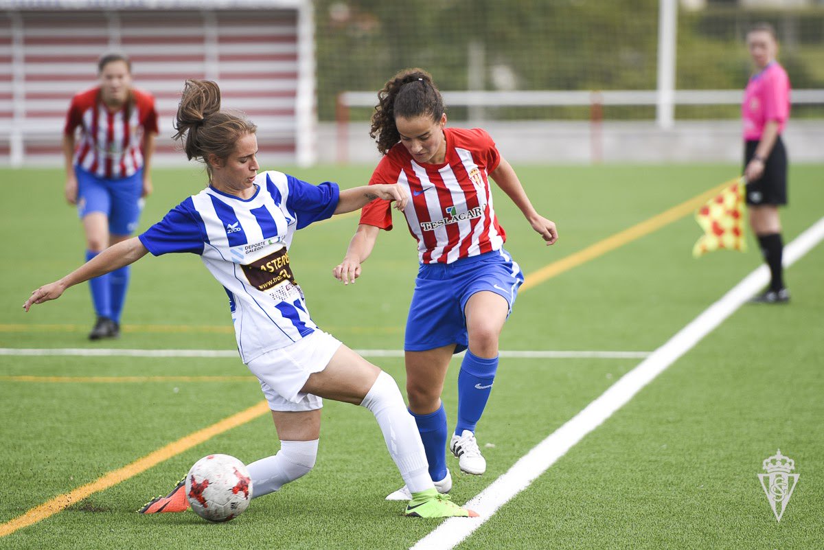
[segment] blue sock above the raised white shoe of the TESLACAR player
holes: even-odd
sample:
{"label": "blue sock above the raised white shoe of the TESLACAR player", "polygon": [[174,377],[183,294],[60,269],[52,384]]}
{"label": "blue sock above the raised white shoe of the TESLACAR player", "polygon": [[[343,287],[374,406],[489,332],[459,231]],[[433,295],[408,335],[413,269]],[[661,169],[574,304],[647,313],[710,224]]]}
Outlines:
{"label": "blue sock above the raised white shoe of the TESLACAR player", "polygon": [[498,371],[497,356],[485,359],[466,350],[461,362],[461,372],[458,373],[456,435],[460,436],[464,430],[475,432],[475,426],[480,420],[480,415],[484,413],[489,394],[492,392],[495,371]]}

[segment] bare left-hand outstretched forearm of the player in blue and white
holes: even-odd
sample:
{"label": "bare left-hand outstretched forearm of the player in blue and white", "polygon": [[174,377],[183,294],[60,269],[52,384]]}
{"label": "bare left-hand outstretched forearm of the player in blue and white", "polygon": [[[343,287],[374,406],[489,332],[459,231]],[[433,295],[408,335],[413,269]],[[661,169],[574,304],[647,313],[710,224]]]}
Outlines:
{"label": "bare left-hand outstretched forearm of the player in blue and white", "polygon": [[112,245],[67,276],[32,292],[29,299],[23,304],[23,309],[28,311],[32,305],[57,300],[68,287],[73,287],[77,283],[86,282],[91,278],[105,275],[115,271],[115,269],[129,265],[129,263],[134,263],[147,253],[148,250],[137,237]]}

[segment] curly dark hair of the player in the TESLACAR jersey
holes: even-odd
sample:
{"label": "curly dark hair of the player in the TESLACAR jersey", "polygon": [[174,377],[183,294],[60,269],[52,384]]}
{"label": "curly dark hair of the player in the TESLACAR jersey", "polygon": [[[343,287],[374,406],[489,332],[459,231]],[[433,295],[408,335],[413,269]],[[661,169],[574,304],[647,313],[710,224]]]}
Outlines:
{"label": "curly dark hair of the player in the TESLACAR jersey", "polygon": [[404,69],[391,77],[377,92],[377,100],[369,136],[375,139],[382,155],[400,141],[395,117],[411,119],[428,115],[440,120],[446,111],[432,75],[421,68]]}

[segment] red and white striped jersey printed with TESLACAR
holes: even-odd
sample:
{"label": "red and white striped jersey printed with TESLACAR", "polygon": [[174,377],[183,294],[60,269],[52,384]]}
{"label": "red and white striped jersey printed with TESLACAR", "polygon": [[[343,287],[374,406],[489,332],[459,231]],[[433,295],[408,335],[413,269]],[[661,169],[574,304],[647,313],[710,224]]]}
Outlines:
{"label": "red and white striped jersey printed with TESLACAR", "polygon": [[[489,172],[501,158],[492,137],[480,128],[444,128],[443,133],[447,156],[442,164],[420,164],[397,143],[369,180],[370,185],[398,184],[409,193],[404,216],[418,241],[420,263],[452,263],[499,250],[506,240],[489,189]],[[391,230],[390,203],[372,201],[363,207],[360,222]]]}

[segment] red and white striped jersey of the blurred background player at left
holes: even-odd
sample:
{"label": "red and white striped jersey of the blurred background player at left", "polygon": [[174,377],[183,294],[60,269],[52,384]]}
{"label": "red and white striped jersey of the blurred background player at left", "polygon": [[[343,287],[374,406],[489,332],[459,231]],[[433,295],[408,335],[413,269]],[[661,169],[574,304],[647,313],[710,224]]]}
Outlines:
{"label": "red and white striped jersey of the blurred background player at left", "polygon": [[130,103],[111,112],[100,100],[100,87],[73,97],[63,133],[81,128],[75,165],[105,179],[126,178],[143,168],[143,135],[157,133],[157,111],[145,91],[132,89]]}

